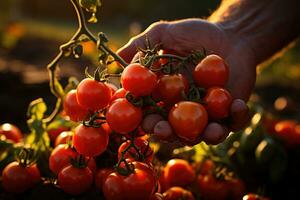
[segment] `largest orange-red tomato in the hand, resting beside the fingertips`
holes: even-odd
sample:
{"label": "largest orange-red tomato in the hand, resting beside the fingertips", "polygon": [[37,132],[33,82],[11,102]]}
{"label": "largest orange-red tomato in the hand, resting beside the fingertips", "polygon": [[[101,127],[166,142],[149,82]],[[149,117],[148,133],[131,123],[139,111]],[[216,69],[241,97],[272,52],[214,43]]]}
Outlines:
{"label": "largest orange-red tomato in the hand, resting beside the fingertips", "polygon": [[208,116],[201,104],[182,101],[172,107],[168,119],[179,138],[193,142],[206,127]]}

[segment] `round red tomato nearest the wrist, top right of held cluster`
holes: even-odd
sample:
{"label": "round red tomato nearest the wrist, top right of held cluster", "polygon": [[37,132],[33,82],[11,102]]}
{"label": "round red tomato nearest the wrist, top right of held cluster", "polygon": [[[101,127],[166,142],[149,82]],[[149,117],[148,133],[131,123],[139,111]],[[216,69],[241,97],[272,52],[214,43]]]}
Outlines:
{"label": "round red tomato nearest the wrist, top right of held cluster", "polygon": [[217,55],[206,56],[194,69],[193,78],[199,87],[224,87],[229,77],[225,61]]}

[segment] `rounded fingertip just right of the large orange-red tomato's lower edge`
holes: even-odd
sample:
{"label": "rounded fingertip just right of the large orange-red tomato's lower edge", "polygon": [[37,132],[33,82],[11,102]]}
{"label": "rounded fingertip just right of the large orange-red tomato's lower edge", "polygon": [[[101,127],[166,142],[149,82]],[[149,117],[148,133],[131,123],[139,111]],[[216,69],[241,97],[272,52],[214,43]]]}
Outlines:
{"label": "rounded fingertip just right of the large orange-red tomato's lower edge", "polygon": [[229,130],[225,126],[216,122],[211,122],[204,130],[202,140],[206,144],[216,145],[223,142],[228,134]]}

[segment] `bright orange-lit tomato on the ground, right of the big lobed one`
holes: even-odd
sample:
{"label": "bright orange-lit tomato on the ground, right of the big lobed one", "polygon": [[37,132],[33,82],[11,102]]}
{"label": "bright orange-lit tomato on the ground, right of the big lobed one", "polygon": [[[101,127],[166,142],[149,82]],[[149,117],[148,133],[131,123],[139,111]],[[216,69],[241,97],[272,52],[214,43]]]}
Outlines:
{"label": "bright orange-lit tomato on the ground, right of the big lobed one", "polygon": [[172,159],[165,166],[164,182],[167,187],[185,187],[193,183],[195,178],[195,171],[186,160]]}

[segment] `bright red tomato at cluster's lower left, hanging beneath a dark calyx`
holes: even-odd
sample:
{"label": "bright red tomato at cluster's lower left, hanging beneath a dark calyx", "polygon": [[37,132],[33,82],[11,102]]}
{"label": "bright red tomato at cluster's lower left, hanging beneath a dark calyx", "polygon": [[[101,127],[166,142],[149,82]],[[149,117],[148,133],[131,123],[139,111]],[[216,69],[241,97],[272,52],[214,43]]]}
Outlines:
{"label": "bright red tomato at cluster's lower left, hanging beneath a dark calyx", "polygon": [[93,128],[80,124],[73,136],[73,145],[78,153],[94,157],[103,153],[108,145],[109,135],[103,127]]}

